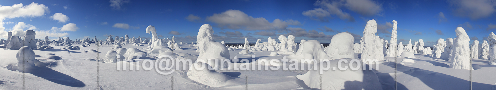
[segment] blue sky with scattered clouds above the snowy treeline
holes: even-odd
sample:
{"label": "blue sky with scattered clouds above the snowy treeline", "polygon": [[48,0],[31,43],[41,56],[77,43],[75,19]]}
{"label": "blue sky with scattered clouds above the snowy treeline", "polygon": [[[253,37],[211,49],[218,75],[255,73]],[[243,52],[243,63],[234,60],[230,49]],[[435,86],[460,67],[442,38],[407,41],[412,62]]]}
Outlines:
{"label": "blue sky with scattered clouds above the snowy treeline", "polygon": [[4,0],[0,5],[0,39],[28,29],[38,39],[150,38],[145,29],[153,25],[159,38],[190,43],[201,25],[210,24],[218,42],[294,35],[296,42],[329,43],[333,35],[350,32],[358,43],[366,22],[375,19],[377,36],[385,40],[396,20],[398,42],[423,39],[432,46],[439,38],[455,38],[456,27],[481,43],[496,30],[495,0]]}

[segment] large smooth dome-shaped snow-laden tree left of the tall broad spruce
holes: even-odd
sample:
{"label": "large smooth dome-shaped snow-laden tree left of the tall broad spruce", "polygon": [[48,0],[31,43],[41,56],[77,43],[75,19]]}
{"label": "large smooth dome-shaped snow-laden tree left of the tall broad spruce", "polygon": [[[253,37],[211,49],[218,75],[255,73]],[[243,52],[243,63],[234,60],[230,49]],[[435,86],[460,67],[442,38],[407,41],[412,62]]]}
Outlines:
{"label": "large smooth dome-shaped snow-laden tree left of the tall broad spruce", "polygon": [[355,42],[355,38],[351,34],[346,32],[338,33],[332,37],[331,43],[327,46],[327,55],[333,59],[354,59],[353,42]]}

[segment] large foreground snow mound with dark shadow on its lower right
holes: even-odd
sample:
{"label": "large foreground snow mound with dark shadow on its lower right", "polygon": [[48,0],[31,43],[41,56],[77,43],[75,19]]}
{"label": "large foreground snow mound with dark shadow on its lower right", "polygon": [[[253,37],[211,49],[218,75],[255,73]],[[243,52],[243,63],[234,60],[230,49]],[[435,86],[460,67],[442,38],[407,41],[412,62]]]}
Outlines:
{"label": "large foreground snow mound with dark shadow on its lower right", "polygon": [[[345,60],[350,62],[352,59],[346,58]],[[328,66],[329,64],[327,63],[323,63],[322,67],[332,67],[332,65],[337,65],[338,61],[339,60],[330,60],[330,66]],[[356,63],[353,66],[360,67],[357,66]],[[320,65],[314,65],[312,68],[319,67]],[[320,76],[322,76],[322,78],[320,78]],[[362,68],[359,68],[358,70],[347,69],[344,71],[338,69],[333,71],[329,69],[327,71],[322,71],[322,75],[319,74],[319,70],[310,70],[306,74],[298,75],[296,77],[303,80],[305,85],[313,89],[382,90],[381,83],[379,83],[377,75],[369,69],[362,70]]]}

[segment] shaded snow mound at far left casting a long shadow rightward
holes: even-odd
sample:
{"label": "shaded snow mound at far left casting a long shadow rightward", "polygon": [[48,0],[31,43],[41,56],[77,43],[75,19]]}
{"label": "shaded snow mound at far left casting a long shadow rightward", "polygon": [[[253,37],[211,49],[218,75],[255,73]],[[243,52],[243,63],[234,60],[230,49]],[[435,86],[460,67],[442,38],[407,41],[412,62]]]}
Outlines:
{"label": "shaded snow mound at far left casting a long shadow rightward", "polygon": [[35,59],[34,51],[28,46],[20,47],[15,57],[18,60],[17,71],[19,72],[31,72],[45,66],[44,63]]}

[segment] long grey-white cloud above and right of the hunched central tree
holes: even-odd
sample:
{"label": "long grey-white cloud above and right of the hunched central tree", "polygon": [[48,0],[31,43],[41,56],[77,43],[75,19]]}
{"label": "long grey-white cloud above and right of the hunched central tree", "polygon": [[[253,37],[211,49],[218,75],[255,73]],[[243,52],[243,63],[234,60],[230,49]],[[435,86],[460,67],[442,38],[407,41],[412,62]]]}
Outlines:
{"label": "long grey-white cloud above and right of the hunched central tree", "polygon": [[263,17],[253,18],[240,10],[227,10],[207,17],[207,21],[214,22],[220,27],[243,30],[283,30],[288,25],[301,25],[296,20],[275,19],[272,22]]}

